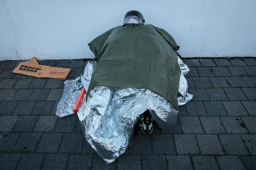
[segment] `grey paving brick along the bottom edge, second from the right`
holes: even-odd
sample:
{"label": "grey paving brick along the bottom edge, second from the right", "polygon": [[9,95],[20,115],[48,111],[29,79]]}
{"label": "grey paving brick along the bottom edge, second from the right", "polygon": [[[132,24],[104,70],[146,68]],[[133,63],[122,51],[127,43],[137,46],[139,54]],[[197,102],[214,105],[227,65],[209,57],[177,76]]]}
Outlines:
{"label": "grey paving brick along the bottom edge, second from the right", "polygon": [[244,165],[238,156],[218,156],[218,164],[222,170],[243,170]]}

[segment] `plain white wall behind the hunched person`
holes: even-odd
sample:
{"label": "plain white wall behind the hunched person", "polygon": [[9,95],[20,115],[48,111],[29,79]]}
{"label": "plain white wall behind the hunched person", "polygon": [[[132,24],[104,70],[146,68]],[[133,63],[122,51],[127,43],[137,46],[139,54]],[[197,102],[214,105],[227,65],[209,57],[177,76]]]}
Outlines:
{"label": "plain white wall behind the hunched person", "polygon": [[87,43],[129,10],[183,57],[256,56],[256,0],[0,0],[0,60],[92,58]]}

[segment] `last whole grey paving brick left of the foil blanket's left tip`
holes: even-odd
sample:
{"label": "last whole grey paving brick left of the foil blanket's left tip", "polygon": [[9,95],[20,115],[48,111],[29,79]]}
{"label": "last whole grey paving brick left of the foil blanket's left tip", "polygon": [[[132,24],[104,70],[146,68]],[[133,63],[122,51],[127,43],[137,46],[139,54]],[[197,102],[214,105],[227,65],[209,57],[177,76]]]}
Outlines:
{"label": "last whole grey paving brick left of the foil blanket's left tip", "polygon": [[52,110],[53,101],[38,101],[32,111],[33,115],[49,115]]}

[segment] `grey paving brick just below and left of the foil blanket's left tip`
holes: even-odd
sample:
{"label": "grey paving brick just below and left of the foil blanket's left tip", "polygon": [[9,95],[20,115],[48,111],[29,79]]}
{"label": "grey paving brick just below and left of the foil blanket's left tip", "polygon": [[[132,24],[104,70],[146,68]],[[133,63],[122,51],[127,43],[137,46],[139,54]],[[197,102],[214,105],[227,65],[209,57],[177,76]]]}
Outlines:
{"label": "grey paving brick just below and left of the foil blanket's left tip", "polygon": [[40,116],[34,128],[34,131],[52,132],[55,127],[56,121],[56,116]]}

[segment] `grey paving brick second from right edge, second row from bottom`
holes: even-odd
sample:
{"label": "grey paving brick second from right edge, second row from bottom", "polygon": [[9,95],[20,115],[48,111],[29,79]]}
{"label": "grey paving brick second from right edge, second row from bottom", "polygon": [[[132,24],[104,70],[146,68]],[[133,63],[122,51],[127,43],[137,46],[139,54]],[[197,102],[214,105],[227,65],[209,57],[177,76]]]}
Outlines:
{"label": "grey paving brick second from right edge, second row from bottom", "polygon": [[219,135],[219,138],[226,154],[248,154],[239,135]]}

